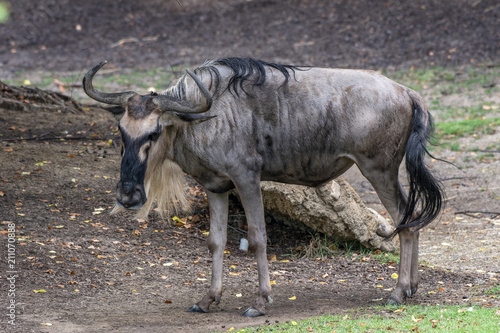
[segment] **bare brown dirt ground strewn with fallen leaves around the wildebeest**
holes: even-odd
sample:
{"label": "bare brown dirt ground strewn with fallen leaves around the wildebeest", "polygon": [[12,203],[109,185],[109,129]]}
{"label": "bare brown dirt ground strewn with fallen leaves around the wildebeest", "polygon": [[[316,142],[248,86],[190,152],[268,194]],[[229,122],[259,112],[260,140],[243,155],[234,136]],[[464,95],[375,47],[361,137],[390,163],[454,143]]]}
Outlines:
{"label": "bare brown dirt ground strewn with fallen leaves around the wildebeest", "polygon": [[[11,21],[0,29],[7,41],[0,43],[0,81],[31,70],[85,72],[103,59],[139,69],[229,55],[377,69],[499,63],[500,5],[493,0],[10,3]],[[233,207],[222,302],[209,314],[187,313],[210,282],[202,189],[190,189],[194,210],[184,216],[187,224],[111,217],[120,164],[111,115],[91,106],[0,108],[0,122],[2,253],[9,224],[17,237],[14,266],[5,256],[0,263],[1,330],[226,331],[383,304],[394,286],[396,264],[356,253],[297,258],[291,253],[310,236],[270,223],[275,302],[265,316],[244,318],[239,314],[256,291],[256,264],[238,250],[242,218]],[[43,140],[5,140],[46,132]],[[461,140],[488,150],[500,137],[497,131]],[[441,149],[439,157],[461,169],[430,162],[446,188],[447,208],[422,233],[421,285],[408,303],[498,307],[499,299],[483,291],[500,278],[499,216],[467,212],[500,211],[499,154]],[[384,211],[356,170],[346,178],[368,205]],[[4,283],[10,271],[15,297]],[[12,299],[15,327],[7,324]]]}

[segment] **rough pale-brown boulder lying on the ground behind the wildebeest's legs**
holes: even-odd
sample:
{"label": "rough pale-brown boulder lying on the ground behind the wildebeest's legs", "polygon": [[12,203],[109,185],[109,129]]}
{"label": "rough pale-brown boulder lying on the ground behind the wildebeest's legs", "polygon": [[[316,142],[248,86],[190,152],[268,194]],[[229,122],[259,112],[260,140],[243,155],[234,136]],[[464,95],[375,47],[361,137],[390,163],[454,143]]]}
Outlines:
{"label": "rough pale-brown boulder lying on the ground behind the wildebeest's legs", "polygon": [[301,224],[340,240],[358,240],[367,248],[394,251],[398,240],[387,240],[394,227],[367,208],[354,189],[339,177],[313,188],[262,182],[266,214],[287,224]]}

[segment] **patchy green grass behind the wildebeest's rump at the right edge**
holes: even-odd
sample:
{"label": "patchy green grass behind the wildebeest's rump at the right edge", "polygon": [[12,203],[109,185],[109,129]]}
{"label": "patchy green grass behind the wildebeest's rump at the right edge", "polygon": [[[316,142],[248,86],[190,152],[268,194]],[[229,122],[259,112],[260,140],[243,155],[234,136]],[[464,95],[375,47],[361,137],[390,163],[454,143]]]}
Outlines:
{"label": "patchy green grass behind the wildebeest's rump at the right edge", "polygon": [[[424,97],[436,121],[437,147],[466,151],[457,138],[480,138],[500,127],[500,66],[432,67],[384,71]],[[498,149],[493,147],[492,149]]]}

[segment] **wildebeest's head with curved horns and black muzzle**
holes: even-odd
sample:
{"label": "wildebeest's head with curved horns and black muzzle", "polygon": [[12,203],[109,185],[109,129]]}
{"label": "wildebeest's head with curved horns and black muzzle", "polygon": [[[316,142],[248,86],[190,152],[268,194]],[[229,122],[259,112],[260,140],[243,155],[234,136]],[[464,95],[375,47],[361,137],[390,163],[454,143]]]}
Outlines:
{"label": "wildebeest's head with curved horns and black muzzle", "polygon": [[[172,168],[177,168],[175,171],[177,173],[180,171],[178,166],[165,161],[167,138],[164,128],[211,118],[201,113],[210,109],[212,98],[201,79],[189,70],[187,73],[192,81],[188,82],[187,76],[184,75],[177,85],[169,90],[169,94],[140,95],[132,91],[103,93],[93,87],[92,79],[105,64],[106,61],[101,62],[85,75],[83,88],[90,98],[115,105],[108,108],[108,111],[123,114],[119,125],[122,137],[122,162],[116,191],[117,205],[114,211],[123,208],[137,210],[146,203],[154,177],[160,177],[158,173],[166,172],[160,169],[172,171]],[[188,85],[192,82],[196,83],[198,91],[202,94],[199,98],[186,98],[186,90],[190,88]],[[158,199],[162,199],[161,196]],[[152,202],[149,202],[146,205],[147,210],[141,215],[147,214],[151,204]]]}

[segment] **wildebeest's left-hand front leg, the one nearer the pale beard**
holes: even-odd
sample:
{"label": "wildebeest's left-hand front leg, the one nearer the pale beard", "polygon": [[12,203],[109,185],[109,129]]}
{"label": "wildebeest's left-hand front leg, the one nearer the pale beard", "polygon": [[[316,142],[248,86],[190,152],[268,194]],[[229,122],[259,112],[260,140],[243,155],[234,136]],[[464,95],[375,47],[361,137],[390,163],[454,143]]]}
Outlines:
{"label": "wildebeest's left-hand front leg, the one nearer the pale beard", "polygon": [[201,301],[191,306],[189,312],[208,312],[212,302],[219,304],[222,296],[222,261],[227,241],[228,194],[216,194],[206,191],[210,209],[210,234],[208,249],[212,253],[212,284],[208,294]]}

